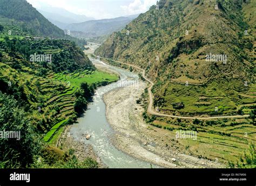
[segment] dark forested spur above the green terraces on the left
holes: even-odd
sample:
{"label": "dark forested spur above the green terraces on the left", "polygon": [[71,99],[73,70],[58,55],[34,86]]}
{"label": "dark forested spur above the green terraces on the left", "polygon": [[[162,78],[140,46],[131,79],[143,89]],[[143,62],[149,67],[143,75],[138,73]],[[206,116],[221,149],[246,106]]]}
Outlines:
{"label": "dark forested spur above the green terraces on the left", "polygon": [[[22,56],[25,60],[31,62],[27,64],[31,68],[40,68],[39,75],[45,75],[47,70],[73,72],[81,68],[92,67],[91,61],[85,56],[84,52],[76,46],[75,42],[70,40],[31,40],[30,38],[22,40],[14,38],[10,40],[6,36],[4,41],[0,43],[0,47],[2,49],[0,56],[4,56],[5,53],[8,53],[11,58]],[[49,54],[51,59],[48,59],[48,61],[38,60],[38,63],[33,63],[36,59],[31,61],[31,57],[41,54]],[[14,64],[14,68],[18,68],[18,65]]]}

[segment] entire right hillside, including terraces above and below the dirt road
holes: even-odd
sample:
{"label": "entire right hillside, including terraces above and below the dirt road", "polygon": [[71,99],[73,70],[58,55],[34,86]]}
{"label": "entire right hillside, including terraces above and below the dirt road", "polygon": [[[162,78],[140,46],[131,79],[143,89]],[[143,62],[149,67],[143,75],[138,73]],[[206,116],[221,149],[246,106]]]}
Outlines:
{"label": "entire right hillside, including terraces above and below the dirt road", "polygon": [[[250,114],[246,119],[158,118],[146,112],[147,90],[142,97],[148,129],[161,128],[172,139],[179,130],[193,130],[197,140],[176,140],[181,152],[235,162],[250,141],[255,144],[255,8],[256,1],[161,0],[114,32],[95,54],[144,68],[154,82],[159,113]],[[223,59],[207,60],[213,55]]]}

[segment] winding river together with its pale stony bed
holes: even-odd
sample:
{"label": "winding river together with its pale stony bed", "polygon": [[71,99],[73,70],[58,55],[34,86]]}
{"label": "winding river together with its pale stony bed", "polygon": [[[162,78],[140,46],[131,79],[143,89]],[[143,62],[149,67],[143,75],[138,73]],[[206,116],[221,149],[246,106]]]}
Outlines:
{"label": "winding river together with its pale stony bed", "polygon": [[[93,50],[95,45],[90,43],[89,46]],[[174,139],[163,130],[147,125],[142,118],[144,108],[136,104],[147,84],[142,80],[138,82],[138,75],[134,73],[90,59],[100,70],[118,72],[121,79],[97,89],[88,110],[82,118],[78,118],[78,123],[69,128],[64,139],[68,139],[69,134],[86,147],[92,146],[98,161],[109,168],[223,166],[219,162],[180,153],[171,147]],[[91,135],[90,140],[85,138],[88,134]]]}

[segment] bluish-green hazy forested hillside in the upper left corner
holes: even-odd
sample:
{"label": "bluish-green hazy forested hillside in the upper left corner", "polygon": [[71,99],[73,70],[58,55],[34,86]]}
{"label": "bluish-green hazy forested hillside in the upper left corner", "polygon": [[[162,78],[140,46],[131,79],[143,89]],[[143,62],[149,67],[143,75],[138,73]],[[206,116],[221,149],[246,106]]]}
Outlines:
{"label": "bluish-green hazy forested hillside in the upper left corner", "polygon": [[[0,31],[3,35],[69,39],[84,49],[86,40],[65,35],[25,0],[0,1]],[[3,39],[0,35],[0,40]],[[1,38],[2,37],[2,38]]]}

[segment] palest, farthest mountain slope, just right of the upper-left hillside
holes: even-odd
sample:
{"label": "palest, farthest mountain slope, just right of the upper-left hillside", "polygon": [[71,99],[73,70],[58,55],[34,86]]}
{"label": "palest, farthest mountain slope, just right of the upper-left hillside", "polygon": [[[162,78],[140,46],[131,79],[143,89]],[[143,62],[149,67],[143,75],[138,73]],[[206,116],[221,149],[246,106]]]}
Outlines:
{"label": "palest, farthest mountain slope, just right of the upper-left hillside", "polygon": [[65,9],[51,6],[42,6],[40,9],[38,9],[38,11],[60,29],[65,29],[66,26],[72,23],[81,23],[86,22],[87,20],[94,20],[92,17],[77,15]]}

